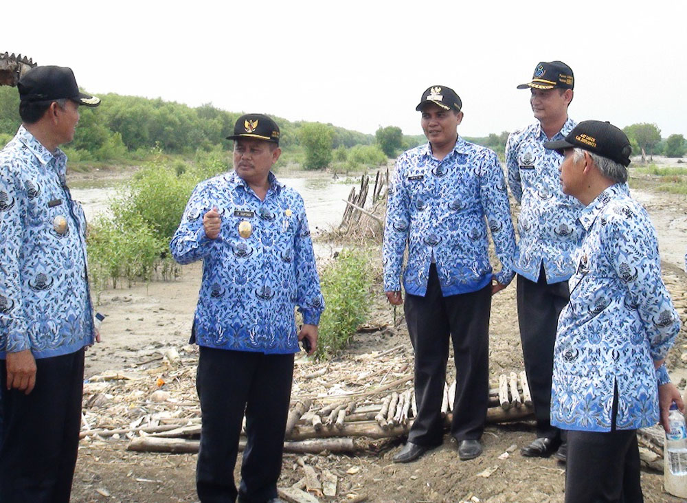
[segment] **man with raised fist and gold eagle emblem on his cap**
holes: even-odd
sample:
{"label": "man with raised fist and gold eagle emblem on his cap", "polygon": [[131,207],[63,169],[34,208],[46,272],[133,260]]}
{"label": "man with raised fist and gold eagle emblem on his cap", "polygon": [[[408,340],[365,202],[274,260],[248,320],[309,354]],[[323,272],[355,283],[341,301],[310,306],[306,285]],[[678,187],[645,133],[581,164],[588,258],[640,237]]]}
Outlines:
{"label": "man with raised fist and gold eagle emblem on his cap", "polygon": [[[203,427],[196,488],[203,503],[278,501],[293,354],[317,347],[324,309],[303,199],[271,172],[280,131],[249,113],[234,126],[234,171],[196,186],[170,249],[203,260],[191,341]],[[294,306],[303,315],[297,331]],[[247,445],[234,465],[245,412]]]}

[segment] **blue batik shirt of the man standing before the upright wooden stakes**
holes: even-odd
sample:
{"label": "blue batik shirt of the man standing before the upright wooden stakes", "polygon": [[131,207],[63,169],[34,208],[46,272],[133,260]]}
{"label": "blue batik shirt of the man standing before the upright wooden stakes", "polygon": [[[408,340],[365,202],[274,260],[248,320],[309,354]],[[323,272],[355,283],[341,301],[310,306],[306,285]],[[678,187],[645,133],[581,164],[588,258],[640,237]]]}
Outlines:
{"label": "blue batik shirt of the man standing before the upright wooden stakes", "polygon": [[513,280],[515,230],[504,172],[488,148],[455,142],[439,161],[429,143],[398,157],[390,187],[384,230],[384,290],[427,293],[429,266],[436,269],[443,295],[468,293],[491,282],[488,227],[502,269],[494,276]]}

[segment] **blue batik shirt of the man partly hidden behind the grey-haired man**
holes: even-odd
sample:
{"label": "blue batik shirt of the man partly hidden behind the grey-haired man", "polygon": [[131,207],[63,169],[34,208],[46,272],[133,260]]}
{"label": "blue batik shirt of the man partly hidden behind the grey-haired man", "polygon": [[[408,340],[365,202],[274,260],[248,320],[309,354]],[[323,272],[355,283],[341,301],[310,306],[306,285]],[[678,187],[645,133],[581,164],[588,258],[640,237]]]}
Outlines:
{"label": "blue batik shirt of the man partly hidden behind the grey-haired man", "polygon": [[535,122],[510,133],[506,142],[508,183],[520,203],[515,271],[528,280],[539,279],[544,266],[548,283],[565,281],[574,271],[573,255],[584,230],[577,221],[584,206],[563,194],[559,168],[563,157],[544,148],[544,142],[564,139],[574,128],[570,118],[554,137],[547,138]]}

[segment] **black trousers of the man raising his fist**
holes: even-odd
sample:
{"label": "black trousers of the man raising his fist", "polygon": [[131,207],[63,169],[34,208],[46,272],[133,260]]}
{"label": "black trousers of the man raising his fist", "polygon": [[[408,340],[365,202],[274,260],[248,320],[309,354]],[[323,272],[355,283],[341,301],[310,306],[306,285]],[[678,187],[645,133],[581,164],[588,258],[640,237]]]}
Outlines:
{"label": "black trousers of the man raising his fist", "polygon": [[[202,503],[262,503],[277,498],[286,416],[289,414],[293,355],[205,348],[196,389],[203,426],[196,467]],[[245,411],[247,447],[241,483],[234,483],[238,439]]]}

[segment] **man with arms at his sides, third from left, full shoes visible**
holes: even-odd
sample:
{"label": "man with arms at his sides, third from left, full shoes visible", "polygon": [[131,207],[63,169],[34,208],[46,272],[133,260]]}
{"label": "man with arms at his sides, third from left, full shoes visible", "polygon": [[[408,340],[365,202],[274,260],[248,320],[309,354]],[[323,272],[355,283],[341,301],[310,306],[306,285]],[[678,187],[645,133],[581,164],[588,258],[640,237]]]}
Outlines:
{"label": "man with arms at his sides, third from left, full shoes visible", "polygon": [[[441,403],[449,337],[455,388],[451,435],[462,460],[482,454],[488,401],[488,330],[491,295],[513,279],[515,231],[504,172],[496,154],[458,136],[462,102],[445,86],[423,93],[429,143],[398,157],[384,230],[384,290],[403,303],[415,350],[418,415],[396,462],[410,462],[442,443]],[[488,256],[491,230],[502,270]],[[403,269],[403,254],[408,260]]]}

